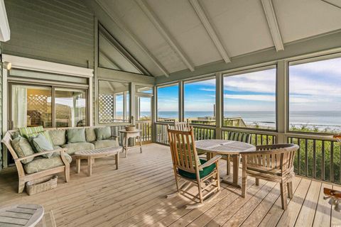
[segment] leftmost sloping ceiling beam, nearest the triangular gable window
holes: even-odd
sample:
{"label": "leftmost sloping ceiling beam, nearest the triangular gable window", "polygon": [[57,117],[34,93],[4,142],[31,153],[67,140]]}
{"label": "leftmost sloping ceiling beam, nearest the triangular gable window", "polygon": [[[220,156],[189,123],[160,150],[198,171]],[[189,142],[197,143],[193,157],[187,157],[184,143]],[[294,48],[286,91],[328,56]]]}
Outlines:
{"label": "leftmost sloping ceiling beam, nearest the triangular gable window", "polygon": [[114,12],[110,12],[109,11],[109,6],[107,6],[107,4],[105,4],[102,1],[96,0],[97,4],[99,4],[99,6],[102,8],[102,10],[107,13],[107,15],[112,18],[112,21],[114,21],[114,23],[117,24],[117,26],[119,26],[119,28],[121,28],[122,31],[124,31],[124,33],[126,33],[129,38],[131,38],[131,40],[134,41],[134,43],[136,43],[136,45],[139,46],[139,48],[141,50],[144,51],[144,53],[151,59],[151,61],[161,70],[161,72],[166,76],[169,77],[169,73],[167,72],[166,68],[163,67],[163,65],[156,59],[156,57],[153,56],[153,54],[146,48],[146,46],[139,40],[139,38],[136,37],[136,35],[134,35],[134,33],[132,33],[131,31],[129,31],[128,28],[126,28],[125,24],[115,15]]}

